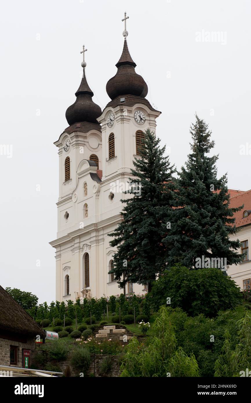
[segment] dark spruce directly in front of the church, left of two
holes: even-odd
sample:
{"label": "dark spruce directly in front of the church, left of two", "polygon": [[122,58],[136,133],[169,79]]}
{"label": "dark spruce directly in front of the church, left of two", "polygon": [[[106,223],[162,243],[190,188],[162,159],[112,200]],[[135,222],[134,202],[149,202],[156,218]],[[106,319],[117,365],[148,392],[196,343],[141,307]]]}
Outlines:
{"label": "dark spruce directly in front of the church, left of two", "polygon": [[[162,239],[166,229],[168,210],[172,208],[173,166],[169,157],[164,156],[165,147],[160,147],[160,139],[149,129],[140,147],[141,158],[135,158],[135,169],[131,174],[136,179],[129,179],[131,189],[140,184],[140,192],[133,197],[121,200],[125,204],[114,237],[110,241],[117,248],[114,254],[114,279],[120,288],[126,283],[151,284],[156,276],[166,267],[165,247]],[[124,192],[127,193],[127,192]],[[111,273],[111,271],[110,271]]]}

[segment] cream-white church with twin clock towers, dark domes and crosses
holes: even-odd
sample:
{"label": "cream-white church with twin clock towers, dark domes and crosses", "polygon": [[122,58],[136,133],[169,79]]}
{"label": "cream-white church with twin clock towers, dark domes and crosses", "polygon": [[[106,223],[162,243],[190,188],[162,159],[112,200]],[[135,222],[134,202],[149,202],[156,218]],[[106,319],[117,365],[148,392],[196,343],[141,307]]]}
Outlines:
{"label": "cream-white church with twin clock towers, dark domes and crosses", "polygon": [[[50,244],[56,248],[58,301],[123,292],[108,274],[115,253],[108,234],[121,221],[122,191],[131,177],[133,159],[140,157],[144,131],[155,131],[161,113],[146,100],[147,84],[135,72],[127,44],[128,18],[125,13],[117,72],[106,85],[111,101],[103,112],[93,103],[83,47],[83,78],[75,103],[66,110],[69,127],[55,142],[60,194],[57,239]],[[127,284],[125,292],[144,293],[145,287]]]}

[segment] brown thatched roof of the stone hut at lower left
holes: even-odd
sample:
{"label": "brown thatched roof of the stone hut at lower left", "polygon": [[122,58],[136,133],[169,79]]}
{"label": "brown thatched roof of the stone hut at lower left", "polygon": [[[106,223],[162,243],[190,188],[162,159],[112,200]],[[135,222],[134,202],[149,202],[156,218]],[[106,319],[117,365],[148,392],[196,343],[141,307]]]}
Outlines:
{"label": "brown thatched roof of the stone hut at lower left", "polygon": [[33,318],[0,286],[0,332],[1,330],[26,336],[46,336]]}

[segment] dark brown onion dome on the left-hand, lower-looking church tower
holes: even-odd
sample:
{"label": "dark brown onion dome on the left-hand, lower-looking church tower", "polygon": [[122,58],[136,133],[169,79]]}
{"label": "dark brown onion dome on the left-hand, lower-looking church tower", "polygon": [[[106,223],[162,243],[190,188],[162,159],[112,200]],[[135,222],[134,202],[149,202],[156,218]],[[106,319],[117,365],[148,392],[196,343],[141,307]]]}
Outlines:
{"label": "dark brown onion dome on the left-hand, lower-looking church tower", "polygon": [[77,99],[73,105],[69,106],[65,112],[68,124],[71,126],[77,122],[97,123],[97,118],[101,116],[102,110],[100,106],[92,100],[93,92],[91,91],[85,77],[85,62],[82,62],[83,77],[79,89],[75,93]]}

